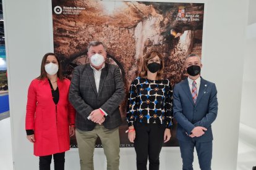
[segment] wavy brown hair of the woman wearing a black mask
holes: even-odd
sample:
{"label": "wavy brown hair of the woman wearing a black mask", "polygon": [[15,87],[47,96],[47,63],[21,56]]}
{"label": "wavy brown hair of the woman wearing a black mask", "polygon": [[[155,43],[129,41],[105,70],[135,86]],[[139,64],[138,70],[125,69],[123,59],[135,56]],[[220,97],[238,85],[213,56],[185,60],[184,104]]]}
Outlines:
{"label": "wavy brown hair of the woman wearing a black mask", "polygon": [[142,62],[142,71],[140,71],[140,77],[141,78],[147,78],[148,76],[148,68],[147,68],[147,65],[148,65],[148,60],[150,59],[153,59],[154,57],[158,56],[159,59],[161,60],[160,62],[160,69],[157,71],[157,75],[156,75],[156,78],[158,79],[162,79],[163,78],[163,69],[164,69],[164,62],[163,62],[163,56],[157,52],[157,51],[150,51],[150,52],[147,52],[147,54],[145,54],[143,56],[143,62]]}

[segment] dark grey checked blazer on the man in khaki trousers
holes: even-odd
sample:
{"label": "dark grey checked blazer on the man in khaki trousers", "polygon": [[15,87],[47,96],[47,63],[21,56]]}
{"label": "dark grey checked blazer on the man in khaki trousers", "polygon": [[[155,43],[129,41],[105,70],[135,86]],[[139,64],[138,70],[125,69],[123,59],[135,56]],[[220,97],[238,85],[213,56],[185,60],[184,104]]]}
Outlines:
{"label": "dark grey checked blazer on the man in khaki trousers", "polygon": [[81,131],[92,131],[96,123],[87,117],[98,108],[108,114],[103,123],[107,129],[118,127],[122,123],[119,104],[123,99],[124,83],[119,67],[105,63],[98,93],[90,63],[75,67],[69,89],[69,101],[77,111],[75,127]]}

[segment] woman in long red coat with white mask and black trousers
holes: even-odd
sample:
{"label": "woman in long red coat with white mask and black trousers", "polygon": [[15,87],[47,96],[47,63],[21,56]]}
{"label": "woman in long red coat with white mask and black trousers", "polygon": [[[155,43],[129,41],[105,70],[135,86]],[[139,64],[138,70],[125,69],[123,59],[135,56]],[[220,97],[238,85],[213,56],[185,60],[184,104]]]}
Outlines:
{"label": "woman in long red coat with white mask and black trousers", "polygon": [[34,144],[34,155],[40,156],[40,170],[64,169],[69,136],[75,134],[75,110],[69,103],[69,79],[62,75],[61,63],[53,53],[45,54],[41,75],[28,88],[26,131]]}

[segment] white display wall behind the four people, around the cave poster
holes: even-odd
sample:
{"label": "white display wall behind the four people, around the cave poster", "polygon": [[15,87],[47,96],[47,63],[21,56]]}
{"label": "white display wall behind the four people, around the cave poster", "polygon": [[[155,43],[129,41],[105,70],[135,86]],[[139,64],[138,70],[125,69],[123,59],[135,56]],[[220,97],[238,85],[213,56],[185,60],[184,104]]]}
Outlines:
{"label": "white display wall behind the four people, around the cave poster", "polygon": [[[175,2],[207,2],[202,76],[216,83],[220,103],[218,117],[213,124],[212,169],[234,170],[248,1]],[[5,0],[4,11],[15,169],[37,169],[38,158],[32,155],[32,145],[25,139],[25,105],[28,85],[39,75],[43,54],[53,51],[51,1]],[[106,161],[102,149],[96,149],[95,159],[95,169],[104,169]],[[66,153],[66,168],[79,169],[76,150]],[[198,169],[196,157],[194,168]],[[120,169],[135,169],[133,148],[121,148]],[[179,148],[163,148],[160,169],[181,169]]]}

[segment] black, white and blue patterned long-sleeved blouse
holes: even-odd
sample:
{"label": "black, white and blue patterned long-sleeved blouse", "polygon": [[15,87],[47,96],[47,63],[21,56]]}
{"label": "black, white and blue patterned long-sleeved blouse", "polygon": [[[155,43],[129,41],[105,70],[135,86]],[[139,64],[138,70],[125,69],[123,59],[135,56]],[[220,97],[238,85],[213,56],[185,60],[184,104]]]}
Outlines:
{"label": "black, white and blue patterned long-sleeved blouse", "polygon": [[173,119],[173,89],[168,79],[150,80],[137,77],[130,84],[127,103],[127,122],[166,124],[171,128]]}

